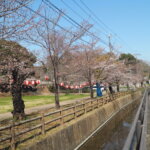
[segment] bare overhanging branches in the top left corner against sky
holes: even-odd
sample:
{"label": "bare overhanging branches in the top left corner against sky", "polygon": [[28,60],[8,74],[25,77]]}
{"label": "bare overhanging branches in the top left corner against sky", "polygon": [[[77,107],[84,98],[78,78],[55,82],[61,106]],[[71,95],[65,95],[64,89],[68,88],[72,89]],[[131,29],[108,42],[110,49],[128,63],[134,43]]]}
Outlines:
{"label": "bare overhanging branches in the top left corner against sky", "polygon": [[[34,27],[37,15],[27,8],[34,0],[0,1],[0,38],[18,38],[23,32]],[[40,7],[36,12],[40,11]],[[37,23],[36,22],[36,23]]]}

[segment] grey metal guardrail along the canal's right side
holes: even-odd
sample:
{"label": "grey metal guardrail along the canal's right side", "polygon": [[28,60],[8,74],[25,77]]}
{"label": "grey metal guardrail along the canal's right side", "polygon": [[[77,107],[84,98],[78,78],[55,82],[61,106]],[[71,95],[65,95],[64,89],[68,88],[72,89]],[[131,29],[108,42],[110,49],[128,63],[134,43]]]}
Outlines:
{"label": "grey metal guardrail along the canal's right side", "polygon": [[145,90],[123,150],[146,150],[148,94]]}

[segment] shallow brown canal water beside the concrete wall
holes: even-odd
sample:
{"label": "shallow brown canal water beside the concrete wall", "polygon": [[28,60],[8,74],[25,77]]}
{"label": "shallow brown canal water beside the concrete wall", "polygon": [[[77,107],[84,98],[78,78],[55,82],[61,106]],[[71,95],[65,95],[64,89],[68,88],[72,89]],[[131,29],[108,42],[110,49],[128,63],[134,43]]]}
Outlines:
{"label": "shallow brown canal water beside the concrete wall", "polygon": [[121,150],[128,136],[138,105],[119,112],[105,127],[100,129],[79,150]]}

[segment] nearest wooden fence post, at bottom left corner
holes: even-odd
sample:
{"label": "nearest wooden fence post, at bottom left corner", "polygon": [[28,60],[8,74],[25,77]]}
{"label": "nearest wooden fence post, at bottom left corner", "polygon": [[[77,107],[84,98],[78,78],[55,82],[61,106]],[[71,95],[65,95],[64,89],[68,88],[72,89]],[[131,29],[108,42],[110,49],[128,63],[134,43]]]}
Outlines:
{"label": "nearest wooden fence post, at bottom left corner", "polygon": [[10,127],[10,133],[11,133],[11,150],[15,150],[16,146],[15,146],[15,128],[14,128],[14,121],[12,123],[12,126]]}

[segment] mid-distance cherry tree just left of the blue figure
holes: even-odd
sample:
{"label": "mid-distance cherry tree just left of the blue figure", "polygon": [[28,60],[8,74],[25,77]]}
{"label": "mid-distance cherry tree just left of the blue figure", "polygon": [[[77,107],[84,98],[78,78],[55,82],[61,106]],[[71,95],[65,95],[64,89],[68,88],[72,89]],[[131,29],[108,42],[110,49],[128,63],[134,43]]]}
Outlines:
{"label": "mid-distance cherry tree just left of the blue figure", "polygon": [[103,49],[97,46],[97,40],[92,40],[88,45],[80,45],[79,51],[74,55],[73,64],[76,68],[74,70],[83,77],[83,81],[88,82],[91,98],[93,98],[93,83],[96,81],[95,70],[100,65],[99,57],[102,54]]}

